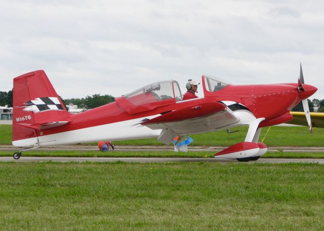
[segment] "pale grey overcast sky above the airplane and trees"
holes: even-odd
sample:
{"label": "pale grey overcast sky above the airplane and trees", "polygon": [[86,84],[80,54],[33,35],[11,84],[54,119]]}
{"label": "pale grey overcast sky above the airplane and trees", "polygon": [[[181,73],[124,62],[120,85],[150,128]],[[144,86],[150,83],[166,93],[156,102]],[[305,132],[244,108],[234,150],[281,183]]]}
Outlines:
{"label": "pale grey overcast sky above the airplane and trees", "polygon": [[0,2],[1,91],[39,69],[63,99],[119,97],[168,79],[185,91],[202,74],[297,83],[302,62],[318,88],[311,99],[324,99],[323,1],[46,2]]}

